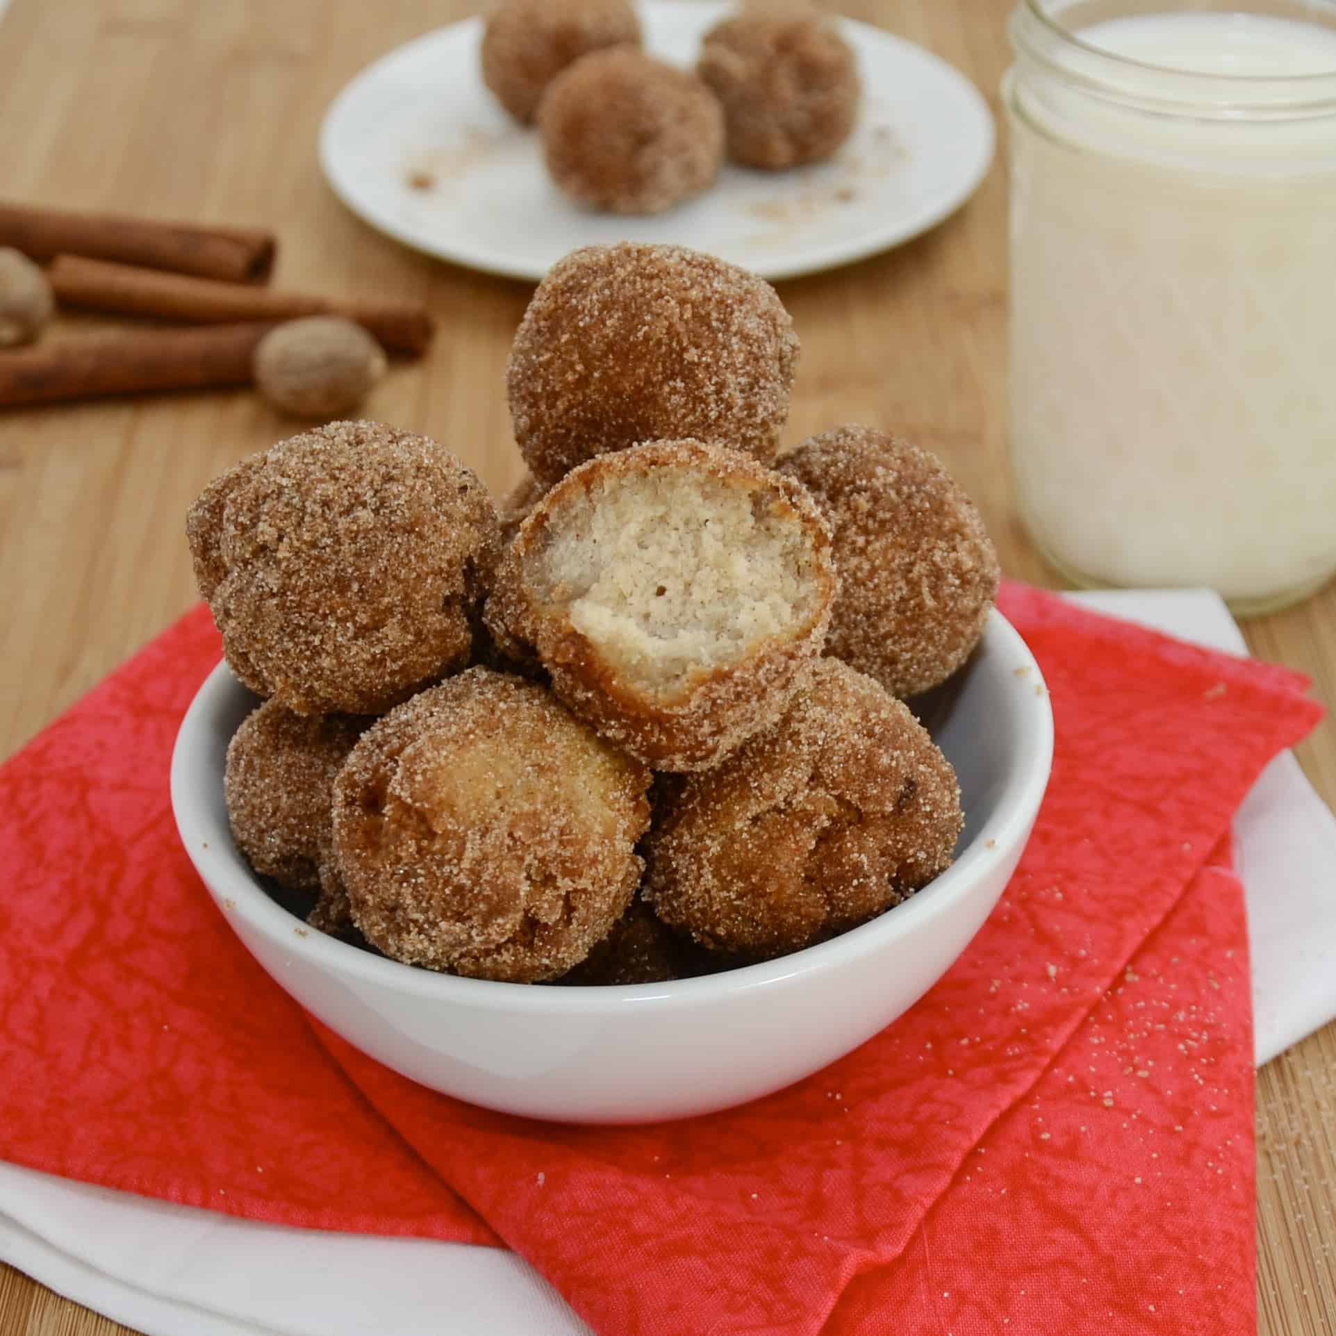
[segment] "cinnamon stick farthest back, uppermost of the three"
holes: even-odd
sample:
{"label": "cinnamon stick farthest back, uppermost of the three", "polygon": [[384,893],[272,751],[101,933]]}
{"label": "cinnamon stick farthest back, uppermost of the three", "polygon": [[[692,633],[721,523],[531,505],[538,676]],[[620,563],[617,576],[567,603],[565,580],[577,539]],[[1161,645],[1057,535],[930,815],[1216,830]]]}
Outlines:
{"label": "cinnamon stick farthest back, uppermost of the three", "polygon": [[258,228],[162,223],[119,214],[83,214],[0,202],[0,246],[13,246],[32,259],[88,255],[224,282],[255,283],[269,278],[275,244],[271,232]]}

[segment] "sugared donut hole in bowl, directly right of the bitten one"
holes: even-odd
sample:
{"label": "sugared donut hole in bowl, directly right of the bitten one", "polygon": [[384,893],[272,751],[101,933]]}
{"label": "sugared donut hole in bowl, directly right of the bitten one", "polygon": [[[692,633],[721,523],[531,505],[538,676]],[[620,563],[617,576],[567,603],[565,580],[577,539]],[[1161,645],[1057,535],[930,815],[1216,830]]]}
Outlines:
{"label": "sugared donut hole in bowl, directly right of the bitten one", "polygon": [[812,437],[780,472],[835,530],[826,652],[902,699],[945,681],[983,635],[1001,574],[974,502],[934,454],[866,426]]}

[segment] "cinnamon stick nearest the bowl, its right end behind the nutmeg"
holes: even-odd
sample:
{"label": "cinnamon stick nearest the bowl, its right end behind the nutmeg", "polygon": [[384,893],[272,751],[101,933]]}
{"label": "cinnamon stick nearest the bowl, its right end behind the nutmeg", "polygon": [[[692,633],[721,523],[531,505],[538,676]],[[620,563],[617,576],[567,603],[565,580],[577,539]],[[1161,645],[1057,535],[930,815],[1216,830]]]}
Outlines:
{"label": "cinnamon stick nearest the bowl, its right end behind the nutmeg", "polygon": [[44,342],[0,354],[0,409],[146,390],[246,385],[255,345],[273,322],[143,330]]}

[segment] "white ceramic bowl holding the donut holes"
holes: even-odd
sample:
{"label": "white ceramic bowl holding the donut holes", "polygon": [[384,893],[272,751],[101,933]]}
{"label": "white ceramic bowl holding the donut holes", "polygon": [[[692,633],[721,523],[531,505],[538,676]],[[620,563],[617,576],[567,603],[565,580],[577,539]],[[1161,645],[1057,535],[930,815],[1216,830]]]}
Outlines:
{"label": "white ceramic bowl holding the donut holes", "polygon": [[1038,665],[993,613],[937,740],[961,779],[955,863],[831,942],[700,979],[534,987],[411,969],[307,930],[232,846],[223,756],[255,707],[224,664],[176,737],[176,826],[236,935],[303,1007],[363,1053],[460,1100],[534,1118],[648,1122],[743,1104],[858,1047],[965,950],[1006,886],[1049,778]]}

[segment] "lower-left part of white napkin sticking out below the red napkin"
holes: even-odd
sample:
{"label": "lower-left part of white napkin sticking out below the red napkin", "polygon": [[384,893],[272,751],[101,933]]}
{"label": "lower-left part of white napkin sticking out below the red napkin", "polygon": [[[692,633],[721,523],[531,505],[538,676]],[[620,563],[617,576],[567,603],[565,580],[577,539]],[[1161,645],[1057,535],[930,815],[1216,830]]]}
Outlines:
{"label": "lower-left part of white napkin sticking out below the red napkin", "polygon": [[0,1257],[147,1336],[591,1336],[501,1248],[263,1225],[4,1161]]}

